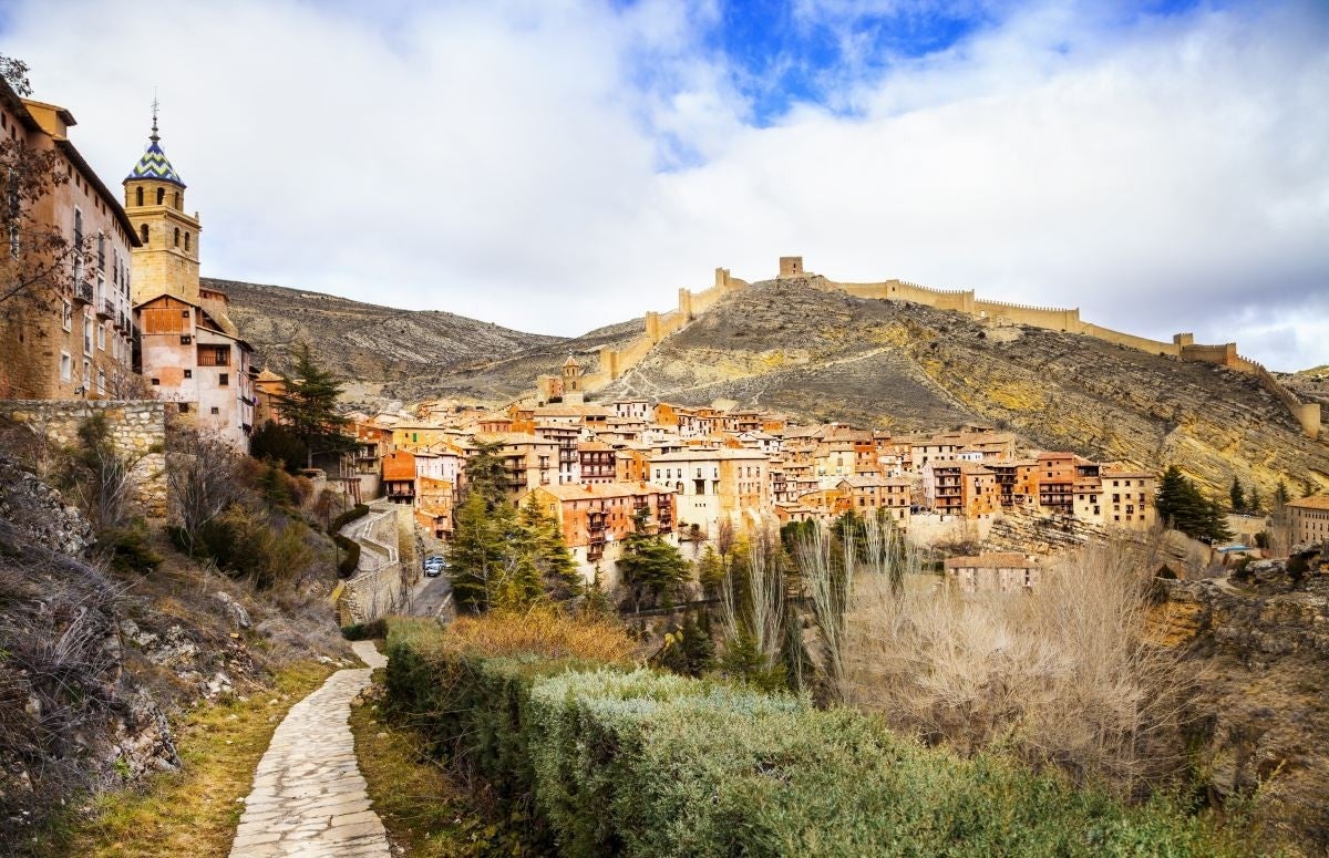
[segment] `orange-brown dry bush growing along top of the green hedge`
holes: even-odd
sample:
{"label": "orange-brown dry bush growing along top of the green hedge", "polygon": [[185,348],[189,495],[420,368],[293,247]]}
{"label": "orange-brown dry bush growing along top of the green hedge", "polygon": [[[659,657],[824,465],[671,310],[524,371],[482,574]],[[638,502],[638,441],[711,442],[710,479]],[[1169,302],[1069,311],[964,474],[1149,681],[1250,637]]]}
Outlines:
{"label": "orange-brown dry bush growing along top of the green hedge", "polygon": [[537,655],[606,663],[626,661],[638,648],[617,620],[567,614],[553,606],[460,616],[439,643],[488,657]]}

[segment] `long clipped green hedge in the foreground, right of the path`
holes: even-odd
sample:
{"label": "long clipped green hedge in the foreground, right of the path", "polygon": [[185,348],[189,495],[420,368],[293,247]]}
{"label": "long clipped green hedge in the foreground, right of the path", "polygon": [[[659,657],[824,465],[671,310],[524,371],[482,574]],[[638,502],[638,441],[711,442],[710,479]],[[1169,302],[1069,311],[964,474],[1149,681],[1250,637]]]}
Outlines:
{"label": "long clipped green hedge in the foreground, right of the path", "polygon": [[851,709],[536,656],[392,622],[388,708],[567,855],[1223,854],[1168,801],[1126,808],[1018,764],[961,760]]}

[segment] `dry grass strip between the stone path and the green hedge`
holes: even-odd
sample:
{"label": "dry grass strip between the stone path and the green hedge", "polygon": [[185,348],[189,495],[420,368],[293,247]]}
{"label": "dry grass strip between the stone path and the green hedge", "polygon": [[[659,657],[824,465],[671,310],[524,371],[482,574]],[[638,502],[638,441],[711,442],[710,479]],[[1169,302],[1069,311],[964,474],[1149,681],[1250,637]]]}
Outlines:
{"label": "dry grass strip between the stone path and the green hedge", "polygon": [[488,825],[465,786],[421,750],[415,730],[384,724],[377,708],[365,704],[351,707],[351,732],[373,809],[395,846],[411,858],[489,851],[497,826]]}

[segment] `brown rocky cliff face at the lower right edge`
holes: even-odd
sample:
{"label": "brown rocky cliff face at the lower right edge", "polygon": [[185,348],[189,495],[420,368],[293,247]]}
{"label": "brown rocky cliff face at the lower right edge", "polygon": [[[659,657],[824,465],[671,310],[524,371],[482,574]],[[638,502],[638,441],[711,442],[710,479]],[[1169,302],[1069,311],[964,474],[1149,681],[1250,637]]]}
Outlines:
{"label": "brown rocky cliff face at the lower right edge", "polygon": [[1271,843],[1329,849],[1329,558],[1159,582],[1156,642],[1181,647],[1200,695],[1195,765],[1215,797],[1255,794]]}

